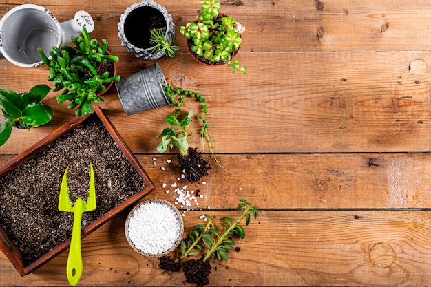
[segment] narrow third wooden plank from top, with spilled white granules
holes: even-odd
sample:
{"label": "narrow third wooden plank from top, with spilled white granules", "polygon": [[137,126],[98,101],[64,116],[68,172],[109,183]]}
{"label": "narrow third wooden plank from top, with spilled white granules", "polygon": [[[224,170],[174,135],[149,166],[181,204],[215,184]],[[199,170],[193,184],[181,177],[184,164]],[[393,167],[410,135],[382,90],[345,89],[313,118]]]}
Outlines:
{"label": "narrow third wooden plank from top, with spilled white granules", "polygon": [[223,154],[224,169],[211,160],[205,184],[178,180],[175,155],[136,156],[156,185],[149,198],[174,203],[176,189],[199,189],[203,197],[199,206],[191,200],[191,209],[234,209],[240,198],[261,209],[431,208],[430,154]]}

